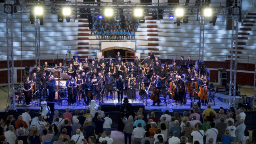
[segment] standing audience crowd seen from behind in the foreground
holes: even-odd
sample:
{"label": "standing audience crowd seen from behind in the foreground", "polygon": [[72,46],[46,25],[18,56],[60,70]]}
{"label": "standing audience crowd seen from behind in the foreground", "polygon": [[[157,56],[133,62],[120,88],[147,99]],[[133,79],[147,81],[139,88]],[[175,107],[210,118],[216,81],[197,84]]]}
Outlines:
{"label": "standing audience crowd seen from behind in the foreground", "polygon": [[[218,113],[207,109],[202,113],[194,104],[189,113],[170,115],[166,110],[161,117],[153,111],[144,115],[140,108],[135,116],[123,117],[124,144],[255,144],[256,130],[250,136],[246,130],[244,109],[231,107],[227,113],[220,107]],[[43,119],[34,113],[31,119],[29,109],[0,121],[0,144],[112,144],[109,113],[101,110],[91,112],[76,110],[74,115],[66,109],[65,113],[55,111],[50,118]],[[201,121],[202,122],[201,122]],[[112,131],[113,133],[113,131]],[[132,138],[133,135],[133,138]],[[120,139],[118,140],[120,142]]]}

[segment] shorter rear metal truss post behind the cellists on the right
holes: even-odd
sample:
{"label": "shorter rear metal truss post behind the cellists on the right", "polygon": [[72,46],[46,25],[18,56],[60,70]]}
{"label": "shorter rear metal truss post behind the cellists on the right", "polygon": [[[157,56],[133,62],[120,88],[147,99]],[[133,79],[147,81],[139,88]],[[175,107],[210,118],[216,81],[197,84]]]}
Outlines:
{"label": "shorter rear metal truss post behind the cellists on the right", "polygon": [[199,61],[204,61],[204,15],[200,15]]}

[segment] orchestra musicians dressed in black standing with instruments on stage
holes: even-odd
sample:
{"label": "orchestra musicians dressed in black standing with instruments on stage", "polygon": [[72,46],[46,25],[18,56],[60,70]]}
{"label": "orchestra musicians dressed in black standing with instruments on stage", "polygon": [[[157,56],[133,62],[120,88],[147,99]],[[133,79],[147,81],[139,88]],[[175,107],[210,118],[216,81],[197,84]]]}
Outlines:
{"label": "orchestra musicians dressed in black standing with instruments on stage", "polygon": [[[68,76],[64,87],[67,89],[69,105],[76,102],[80,104],[82,100],[87,105],[90,104],[90,100],[103,102],[104,98],[108,100],[109,93],[110,99],[113,100],[115,92],[118,95],[118,103],[122,102],[123,96],[134,100],[136,91],[140,100],[144,100],[147,94],[151,95],[153,105],[157,106],[160,105],[160,95],[164,94],[164,91],[168,91],[170,98],[176,103],[186,104],[186,94],[189,94],[189,98],[198,99],[206,105],[209,80],[206,75],[200,75],[200,71],[195,69],[191,56],[188,56],[187,61],[181,56],[178,66],[175,61],[172,65],[168,65],[167,61],[160,61],[152,52],[143,61],[138,56],[124,60],[120,52],[115,59],[102,55],[99,61],[97,57],[90,60],[87,56],[80,57],[76,53],[73,61],[68,63],[69,67],[63,66],[62,63],[54,67],[55,71]],[[36,90],[47,90],[48,101],[53,102],[56,99],[55,93],[59,90],[56,76],[51,76],[51,71],[52,68],[45,62],[42,71],[37,67],[31,78],[25,81],[23,90],[26,104],[28,100],[30,102],[29,94],[35,94]]]}

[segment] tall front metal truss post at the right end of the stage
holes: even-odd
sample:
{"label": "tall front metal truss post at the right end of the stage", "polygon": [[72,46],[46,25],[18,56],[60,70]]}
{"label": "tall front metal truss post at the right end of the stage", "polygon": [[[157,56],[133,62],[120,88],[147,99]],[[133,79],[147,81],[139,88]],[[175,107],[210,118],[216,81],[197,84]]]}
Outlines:
{"label": "tall front metal truss post at the right end of the stage", "polygon": [[230,77],[229,77],[229,107],[235,107],[236,77],[237,77],[237,43],[238,43],[238,7],[233,8],[232,15],[232,35],[230,53]]}

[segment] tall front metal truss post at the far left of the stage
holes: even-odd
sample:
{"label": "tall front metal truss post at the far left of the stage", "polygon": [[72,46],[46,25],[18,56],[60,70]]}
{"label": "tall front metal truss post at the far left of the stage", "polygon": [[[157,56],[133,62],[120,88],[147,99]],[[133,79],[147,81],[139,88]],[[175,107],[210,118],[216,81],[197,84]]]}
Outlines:
{"label": "tall front metal truss post at the far left of the stage", "polygon": [[8,107],[6,111],[16,110],[14,100],[14,64],[13,64],[13,8],[12,0],[6,0],[5,4],[9,6],[5,8],[6,12],[6,55],[7,55],[7,75],[8,75]]}

